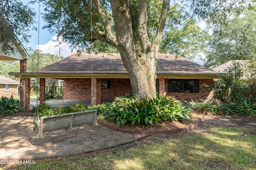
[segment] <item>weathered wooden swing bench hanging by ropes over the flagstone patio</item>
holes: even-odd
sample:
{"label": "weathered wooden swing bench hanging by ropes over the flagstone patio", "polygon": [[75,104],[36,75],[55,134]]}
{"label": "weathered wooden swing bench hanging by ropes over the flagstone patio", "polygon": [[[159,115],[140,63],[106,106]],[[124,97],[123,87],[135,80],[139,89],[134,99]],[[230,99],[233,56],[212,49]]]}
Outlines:
{"label": "weathered wooden swing bench hanging by ropes over the flagstone patio", "polygon": [[82,125],[95,126],[97,117],[97,110],[86,110],[74,113],[65,113],[61,115],[51,115],[33,118],[34,131],[38,131],[38,137],[43,137],[43,132],[52,130],[67,129],[71,132],[72,127],[79,127]]}

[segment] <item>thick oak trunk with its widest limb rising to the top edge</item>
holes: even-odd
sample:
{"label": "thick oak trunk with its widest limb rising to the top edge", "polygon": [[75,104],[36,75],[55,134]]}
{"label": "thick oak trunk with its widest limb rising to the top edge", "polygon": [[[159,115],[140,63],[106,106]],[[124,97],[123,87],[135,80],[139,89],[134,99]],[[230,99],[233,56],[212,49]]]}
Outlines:
{"label": "thick oak trunk with its widest limb rising to the top edge", "polygon": [[[156,51],[158,49],[153,47],[138,50],[141,47],[135,46],[129,0],[110,0],[110,3],[114,16],[118,49],[130,77],[133,97],[135,99],[146,98],[147,96],[154,98],[156,95]],[[144,46],[147,45],[150,46],[150,44]],[[139,54],[138,51],[140,51]]]}

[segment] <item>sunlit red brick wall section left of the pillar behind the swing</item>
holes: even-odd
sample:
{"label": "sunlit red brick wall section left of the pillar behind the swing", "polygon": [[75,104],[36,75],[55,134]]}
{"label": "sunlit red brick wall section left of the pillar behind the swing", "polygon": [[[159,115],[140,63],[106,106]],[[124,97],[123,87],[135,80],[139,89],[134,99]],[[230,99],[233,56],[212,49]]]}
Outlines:
{"label": "sunlit red brick wall section left of the pillar behind the swing", "polygon": [[63,83],[64,100],[90,100],[91,79],[68,79]]}

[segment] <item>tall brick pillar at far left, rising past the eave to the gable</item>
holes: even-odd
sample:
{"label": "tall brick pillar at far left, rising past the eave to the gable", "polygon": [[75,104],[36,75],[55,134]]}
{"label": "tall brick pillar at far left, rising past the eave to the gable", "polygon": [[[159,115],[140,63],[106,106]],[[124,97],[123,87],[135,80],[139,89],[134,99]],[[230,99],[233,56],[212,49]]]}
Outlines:
{"label": "tall brick pillar at far left, rising past the eave to the gable", "polygon": [[[20,60],[20,73],[27,72],[27,59]],[[24,80],[20,79],[20,107],[24,108],[26,101],[24,101]],[[26,89],[25,89],[26,90]]]}

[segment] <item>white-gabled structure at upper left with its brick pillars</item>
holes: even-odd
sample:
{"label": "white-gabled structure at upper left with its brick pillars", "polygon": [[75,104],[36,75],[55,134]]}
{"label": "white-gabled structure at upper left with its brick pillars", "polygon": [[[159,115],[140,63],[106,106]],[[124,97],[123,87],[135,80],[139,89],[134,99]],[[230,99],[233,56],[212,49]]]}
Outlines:
{"label": "white-gabled structure at upper left with its brick pillars", "polygon": [[[27,70],[27,59],[30,59],[27,51],[24,49],[18,39],[13,40],[14,51],[6,54],[2,51],[2,44],[0,44],[0,61],[20,61],[20,72],[26,73]],[[19,77],[18,77],[19,78]],[[26,109],[30,108],[30,79],[20,79],[20,104],[21,107]],[[28,105],[25,106],[25,103]]]}

